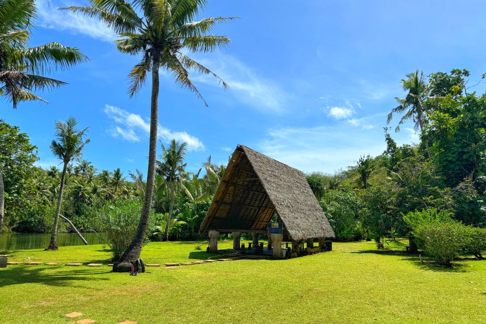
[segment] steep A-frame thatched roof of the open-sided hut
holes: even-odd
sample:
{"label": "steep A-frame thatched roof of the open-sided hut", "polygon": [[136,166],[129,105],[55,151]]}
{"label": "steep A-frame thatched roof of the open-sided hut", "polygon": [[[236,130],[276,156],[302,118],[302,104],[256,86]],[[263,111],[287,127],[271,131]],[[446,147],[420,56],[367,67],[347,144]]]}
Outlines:
{"label": "steep A-frame thatched roof of the open-sided hut", "polygon": [[274,213],[291,239],[335,237],[301,171],[238,145],[200,232],[266,233]]}

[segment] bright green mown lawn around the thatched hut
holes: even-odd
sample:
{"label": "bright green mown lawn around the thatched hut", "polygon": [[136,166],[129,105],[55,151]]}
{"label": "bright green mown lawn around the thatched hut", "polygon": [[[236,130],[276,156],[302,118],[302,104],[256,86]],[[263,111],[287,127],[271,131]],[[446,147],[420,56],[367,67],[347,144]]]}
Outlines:
{"label": "bright green mown lawn around the thatched hut", "polygon": [[[486,323],[486,261],[437,267],[403,245],[333,243],[333,251],[288,260],[237,260],[166,268],[208,258],[207,242],[153,242],[148,273],[112,273],[101,245],[10,252],[0,269],[0,323]],[[201,247],[201,251],[196,250]],[[220,248],[229,248],[229,241]],[[212,255],[209,255],[212,256]],[[80,267],[65,263],[80,262]]]}

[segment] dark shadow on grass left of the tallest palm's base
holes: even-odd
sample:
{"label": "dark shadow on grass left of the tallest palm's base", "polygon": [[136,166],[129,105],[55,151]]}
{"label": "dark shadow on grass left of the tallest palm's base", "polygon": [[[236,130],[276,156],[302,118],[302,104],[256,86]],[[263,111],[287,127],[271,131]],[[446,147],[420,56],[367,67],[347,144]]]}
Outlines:
{"label": "dark shadow on grass left of the tallest palm's base", "polygon": [[52,273],[45,267],[27,267],[27,266],[11,266],[0,271],[0,287],[25,284],[25,283],[41,283],[49,286],[68,287],[74,286],[73,281],[101,281],[109,280],[108,278],[100,278],[99,275],[111,272],[108,267],[106,271],[92,272],[89,270],[79,269],[73,272],[56,271]]}

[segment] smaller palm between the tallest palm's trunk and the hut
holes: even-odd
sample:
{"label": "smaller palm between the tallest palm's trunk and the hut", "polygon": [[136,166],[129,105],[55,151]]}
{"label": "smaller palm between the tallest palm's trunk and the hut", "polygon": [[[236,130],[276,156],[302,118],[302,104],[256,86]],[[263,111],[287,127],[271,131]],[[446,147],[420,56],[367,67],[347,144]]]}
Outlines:
{"label": "smaller palm between the tallest palm's trunk and the hut", "polygon": [[166,230],[164,234],[164,240],[169,240],[169,224],[172,218],[172,212],[174,210],[175,191],[176,189],[183,189],[186,195],[193,200],[191,193],[184,186],[184,180],[186,179],[186,163],[184,158],[187,152],[187,143],[179,143],[173,139],[170,145],[166,148],[164,144],[162,146],[162,154],[160,154],[160,160],[157,160],[157,174],[164,177],[171,194],[171,205],[169,206],[169,216],[167,220]]}

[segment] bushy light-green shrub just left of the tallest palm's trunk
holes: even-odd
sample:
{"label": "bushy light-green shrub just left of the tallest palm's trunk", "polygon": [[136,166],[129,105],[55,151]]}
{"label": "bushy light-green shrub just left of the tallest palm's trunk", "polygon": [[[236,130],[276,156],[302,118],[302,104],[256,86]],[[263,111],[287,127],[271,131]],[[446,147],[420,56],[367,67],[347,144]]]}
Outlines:
{"label": "bushy light-green shrub just left of the tallest palm's trunk", "polygon": [[[137,200],[120,199],[114,205],[109,204],[103,208],[103,231],[106,233],[113,261],[120,259],[132,241],[137,231],[141,211],[142,204]],[[146,243],[148,243],[147,235],[144,244]]]}

